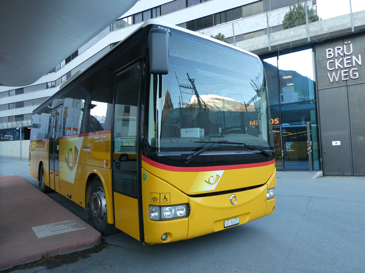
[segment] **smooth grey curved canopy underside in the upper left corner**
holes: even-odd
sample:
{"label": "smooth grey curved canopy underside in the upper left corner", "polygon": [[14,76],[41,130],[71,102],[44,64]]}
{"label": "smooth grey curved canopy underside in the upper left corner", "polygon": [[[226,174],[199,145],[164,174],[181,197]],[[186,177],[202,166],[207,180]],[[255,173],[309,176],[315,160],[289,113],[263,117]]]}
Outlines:
{"label": "smooth grey curved canopy underside in the upper left corner", "polygon": [[0,84],[34,83],[138,0],[0,0]]}

